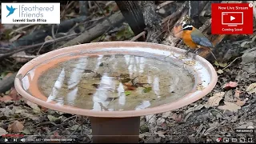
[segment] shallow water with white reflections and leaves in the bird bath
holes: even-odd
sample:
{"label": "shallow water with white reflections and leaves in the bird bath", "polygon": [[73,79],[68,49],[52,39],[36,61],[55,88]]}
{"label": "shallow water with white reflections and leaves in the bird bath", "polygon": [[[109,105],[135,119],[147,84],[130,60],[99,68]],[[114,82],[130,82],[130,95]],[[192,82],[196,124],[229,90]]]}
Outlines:
{"label": "shallow water with white reflections and leaves in the bird bath", "polygon": [[[34,86],[26,78],[22,82]],[[46,102],[102,111],[162,106],[194,87],[189,70],[173,61],[132,54],[86,55],[58,62],[37,82]]]}

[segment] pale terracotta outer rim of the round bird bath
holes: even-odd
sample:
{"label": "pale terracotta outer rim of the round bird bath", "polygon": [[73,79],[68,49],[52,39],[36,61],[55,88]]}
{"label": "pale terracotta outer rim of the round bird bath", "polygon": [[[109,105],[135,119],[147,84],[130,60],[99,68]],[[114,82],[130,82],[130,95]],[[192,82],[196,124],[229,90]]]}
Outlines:
{"label": "pale terracotta outer rim of the round bird bath", "polygon": [[[140,47],[140,48],[150,48],[152,50],[162,50],[167,53],[174,54],[185,54],[186,50],[182,50],[176,48],[174,46],[166,46],[162,44],[150,43],[150,42],[94,42],[94,43],[86,43],[81,45],[69,46],[58,50],[50,51],[49,53],[42,54],[38,56],[38,58],[32,59],[30,62],[27,62],[20,70],[18,70],[18,74],[14,80],[14,86],[18,91],[18,94],[21,94],[22,97],[26,98],[30,102],[34,102],[40,106],[44,106],[46,108],[52,110],[58,110],[65,113],[70,114],[78,114],[85,115],[90,117],[98,117],[98,118],[127,118],[127,117],[138,117],[142,115],[149,114],[159,114],[170,110],[175,110],[181,108],[182,106],[187,106],[192,102],[197,101],[198,99],[209,94],[211,90],[214,89],[214,86],[217,83],[218,75],[214,70],[214,67],[208,62],[205,58],[200,56],[196,56],[196,62],[202,64],[202,66],[206,67],[208,74],[210,75],[210,82],[208,86],[206,86],[203,90],[195,90],[192,93],[186,94],[182,98],[178,98],[178,100],[170,103],[166,103],[162,106],[154,106],[150,108],[146,108],[143,110],[123,110],[123,111],[97,111],[97,110],[89,110],[89,109],[81,109],[73,106],[58,106],[54,104],[54,102],[46,102],[42,99],[35,98],[33,95],[29,94],[22,88],[21,79],[27,74],[30,70],[34,68],[34,66],[39,65],[41,62],[45,62],[46,60],[54,57],[58,57],[62,54],[70,54],[73,52],[81,52],[81,50],[101,50],[102,48],[124,48],[124,47]],[[86,49],[85,49],[86,48]],[[155,53],[155,52],[152,52]],[[191,60],[191,58],[186,58],[186,60]],[[198,71],[198,68],[195,66],[191,66],[191,69]],[[196,74],[194,75],[197,77]],[[202,76],[202,75],[201,75]],[[40,96],[42,97],[42,96]],[[46,97],[46,96],[44,96]]]}

